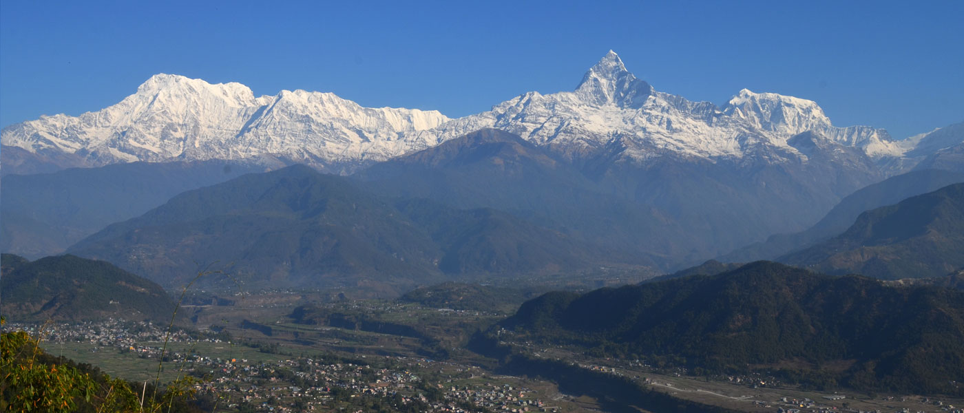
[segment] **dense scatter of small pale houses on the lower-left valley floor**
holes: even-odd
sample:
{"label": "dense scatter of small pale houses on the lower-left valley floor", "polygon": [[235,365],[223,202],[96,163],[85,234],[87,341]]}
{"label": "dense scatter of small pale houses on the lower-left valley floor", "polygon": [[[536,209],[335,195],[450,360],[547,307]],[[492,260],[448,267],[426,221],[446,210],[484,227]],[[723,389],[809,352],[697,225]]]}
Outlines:
{"label": "dense scatter of small pale houses on the lower-left valley floor", "polygon": [[[159,342],[171,344],[198,341],[220,342],[172,331],[152,323],[106,320],[74,324],[16,324],[4,329],[24,330],[40,336],[46,343],[89,343],[100,351],[135,353],[144,358],[159,358],[162,351],[172,366],[183,367],[187,374],[203,377],[195,384],[200,394],[224,400],[228,408],[242,406],[263,412],[329,411],[350,405],[357,398],[391,398],[403,404],[419,402],[437,412],[468,412],[469,407],[485,407],[494,412],[557,411],[535,397],[535,391],[514,387],[498,380],[472,379],[473,368],[447,362],[409,357],[391,357],[391,368],[364,366],[350,362],[297,358],[254,362],[225,359],[199,353],[165,351]],[[170,348],[170,347],[169,347]],[[418,372],[438,374],[439,382],[425,383]],[[481,374],[481,372],[476,372]],[[427,397],[432,387],[435,397]],[[441,395],[441,397],[439,396]],[[349,402],[346,403],[346,400]]]}

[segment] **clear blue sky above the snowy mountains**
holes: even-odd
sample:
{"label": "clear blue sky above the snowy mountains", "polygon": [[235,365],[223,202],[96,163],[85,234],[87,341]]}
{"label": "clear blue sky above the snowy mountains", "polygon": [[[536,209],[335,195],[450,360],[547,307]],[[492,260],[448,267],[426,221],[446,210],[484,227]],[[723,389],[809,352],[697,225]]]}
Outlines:
{"label": "clear blue sky above the snowy mountains", "polygon": [[0,125],[155,73],[466,116],[572,90],[609,49],[656,90],[816,100],[897,138],[964,121],[964,1],[0,2]]}

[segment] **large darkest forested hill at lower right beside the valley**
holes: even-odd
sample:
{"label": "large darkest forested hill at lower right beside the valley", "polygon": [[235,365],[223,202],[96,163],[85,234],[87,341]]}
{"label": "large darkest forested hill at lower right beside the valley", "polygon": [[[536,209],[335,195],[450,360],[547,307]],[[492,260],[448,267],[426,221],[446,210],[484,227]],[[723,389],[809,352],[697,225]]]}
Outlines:
{"label": "large darkest forested hill at lower right beside the valley", "polygon": [[549,293],[502,325],[524,340],[603,355],[721,372],[782,369],[853,388],[961,394],[964,379],[964,292],[770,262]]}

